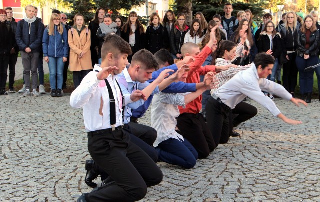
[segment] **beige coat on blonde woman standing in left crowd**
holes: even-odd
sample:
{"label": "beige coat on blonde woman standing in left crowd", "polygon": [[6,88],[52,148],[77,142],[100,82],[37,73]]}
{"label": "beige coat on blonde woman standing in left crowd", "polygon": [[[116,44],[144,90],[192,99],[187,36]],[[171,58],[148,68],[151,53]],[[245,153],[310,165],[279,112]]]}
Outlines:
{"label": "beige coat on blonde woman standing in left crowd", "polygon": [[[73,38],[71,29],[69,29],[68,42],[70,46],[70,71],[81,71],[93,69],[91,63],[91,31],[88,31],[86,36],[86,29],[81,31],[79,36],[78,31],[73,29]],[[80,53],[84,51],[83,58],[78,58]]]}

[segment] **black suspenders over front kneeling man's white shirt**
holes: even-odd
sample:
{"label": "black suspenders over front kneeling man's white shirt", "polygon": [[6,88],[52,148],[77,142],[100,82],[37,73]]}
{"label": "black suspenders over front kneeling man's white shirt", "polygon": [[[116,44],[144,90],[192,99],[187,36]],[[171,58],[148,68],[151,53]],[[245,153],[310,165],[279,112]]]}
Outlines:
{"label": "black suspenders over front kneeling man's white shirt", "polygon": [[[99,72],[98,70],[95,70],[96,72]],[[111,89],[111,86],[110,86],[110,83],[108,82],[107,79],[104,79],[105,81],[105,84],[106,84],[106,87],[108,88],[108,93],[109,93],[109,97],[110,97],[110,124],[111,124],[111,127],[112,127],[112,130],[115,130],[115,122],[116,122],[116,115],[115,115],[115,99],[114,99],[114,96],[113,96],[113,91]],[[124,103],[124,96],[123,96],[123,93],[121,91],[121,88],[120,88],[120,85],[118,83],[117,80],[115,80],[119,89],[120,89],[120,92],[121,92],[121,96],[122,96],[122,118],[124,120],[124,109],[125,109],[125,103]],[[123,122],[122,120],[122,122]]]}

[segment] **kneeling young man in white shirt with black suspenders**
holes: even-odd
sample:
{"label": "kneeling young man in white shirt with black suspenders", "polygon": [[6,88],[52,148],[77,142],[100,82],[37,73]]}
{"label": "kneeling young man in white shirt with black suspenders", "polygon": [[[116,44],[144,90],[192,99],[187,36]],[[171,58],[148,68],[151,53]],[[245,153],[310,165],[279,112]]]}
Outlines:
{"label": "kneeling young man in white shirt with black suspenders", "polygon": [[117,83],[116,75],[126,67],[132,53],[130,45],[117,35],[108,35],[101,51],[103,68],[95,65],[83,78],[71,94],[70,105],[83,108],[90,155],[110,177],[105,186],[84,193],[78,201],[136,201],[163,177],[155,162],[122,130],[124,104],[145,96],[139,90],[122,96]]}

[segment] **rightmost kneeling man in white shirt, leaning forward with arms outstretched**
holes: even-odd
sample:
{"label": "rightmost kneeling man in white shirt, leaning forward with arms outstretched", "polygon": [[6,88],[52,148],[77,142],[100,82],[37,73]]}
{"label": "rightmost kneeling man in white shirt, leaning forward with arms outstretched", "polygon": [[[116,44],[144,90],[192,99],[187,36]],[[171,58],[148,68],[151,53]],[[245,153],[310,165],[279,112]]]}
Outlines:
{"label": "rightmost kneeling man in white shirt, leaning forward with arms outstretched", "polygon": [[283,86],[267,78],[272,72],[274,58],[266,53],[255,56],[252,67],[237,73],[232,79],[218,88],[206,104],[207,125],[212,133],[216,145],[225,144],[229,140],[229,131],[232,124],[232,109],[246,96],[257,101],[274,116],[289,124],[301,124],[301,121],[289,119],[276,107],[275,103],[264,95],[262,90],[272,92],[283,99],[291,100],[307,106],[306,102],[293,98]]}

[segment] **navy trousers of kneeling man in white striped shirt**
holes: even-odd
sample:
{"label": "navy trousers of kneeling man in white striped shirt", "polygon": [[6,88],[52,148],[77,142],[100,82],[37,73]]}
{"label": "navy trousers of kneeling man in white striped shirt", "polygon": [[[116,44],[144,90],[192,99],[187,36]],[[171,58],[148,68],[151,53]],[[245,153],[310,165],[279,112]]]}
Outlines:
{"label": "navy trousers of kneeling man in white striped shirt", "polygon": [[159,160],[184,168],[192,168],[198,159],[198,153],[189,141],[179,141],[169,138],[161,142],[156,148]]}

